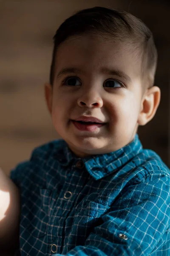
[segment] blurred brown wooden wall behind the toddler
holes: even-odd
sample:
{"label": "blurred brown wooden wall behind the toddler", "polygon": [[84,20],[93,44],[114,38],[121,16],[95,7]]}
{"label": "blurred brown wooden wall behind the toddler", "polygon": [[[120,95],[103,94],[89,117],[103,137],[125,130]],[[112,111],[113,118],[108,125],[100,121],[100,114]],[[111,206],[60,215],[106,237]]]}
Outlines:
{"label": "blurred brown wooden wall behind the toddler", "polygon": [[34,147],[60,138],[44,98],[53,35],[79,9],[122,8],[153,31],[159,52],[155,85],[161,88],[156,116],[139,128],[144,148],[156,151],[170,166],[168,122],[170,99],[170,4],[168,1],[1,0],[0,1],[0,167],[9,174],[30,157]]}

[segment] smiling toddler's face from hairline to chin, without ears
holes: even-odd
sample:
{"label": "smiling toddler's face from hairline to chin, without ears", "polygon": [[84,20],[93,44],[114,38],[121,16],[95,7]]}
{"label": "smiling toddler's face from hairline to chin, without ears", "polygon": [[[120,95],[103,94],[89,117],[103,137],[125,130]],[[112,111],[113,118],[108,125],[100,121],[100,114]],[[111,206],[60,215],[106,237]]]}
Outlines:
{"label": "smiling toddler's face from hairline to chin, without ears", "polygon": [[[85,35],[70,39],[57,50],[53,90],[48,92],[54,127],[79,157],[116,151],[133,140],[138,128],[141,61],[113,39]],[[65,68],[80,71],[58,76]],[[129,79],[102,72],[104,68],[119,70]],[[95,131],[81,131],[71,120],[82,115],[106,124]]]}

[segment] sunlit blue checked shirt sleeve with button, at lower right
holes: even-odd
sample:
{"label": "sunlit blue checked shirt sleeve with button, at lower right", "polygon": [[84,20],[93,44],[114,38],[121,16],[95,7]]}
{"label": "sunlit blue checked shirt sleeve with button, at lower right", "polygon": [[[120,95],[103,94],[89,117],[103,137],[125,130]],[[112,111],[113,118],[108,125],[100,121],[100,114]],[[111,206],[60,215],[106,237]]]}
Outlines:
{"label": "sunlit blue checked shirt sleeve with button, at lower right", "polygon": [[148,256],[155,250],[165,255],[159,247],[170,236],[170,177],[154,171],[142,182],[129,183],[101,218],[85,244],[65,256]]}

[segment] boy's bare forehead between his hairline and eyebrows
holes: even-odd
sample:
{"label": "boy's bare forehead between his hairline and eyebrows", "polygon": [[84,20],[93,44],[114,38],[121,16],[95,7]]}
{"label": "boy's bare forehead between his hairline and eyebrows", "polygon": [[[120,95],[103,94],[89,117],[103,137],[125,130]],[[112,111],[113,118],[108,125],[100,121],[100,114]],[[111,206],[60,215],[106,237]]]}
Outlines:
{"label": "boy's bare forehead between his hairline and eyebrows", "polygon": [[138,61],[132,47],[114,38],[96,36],[76,36],[65,40],[57,49],[56,61],[108,61],[111,63]]}

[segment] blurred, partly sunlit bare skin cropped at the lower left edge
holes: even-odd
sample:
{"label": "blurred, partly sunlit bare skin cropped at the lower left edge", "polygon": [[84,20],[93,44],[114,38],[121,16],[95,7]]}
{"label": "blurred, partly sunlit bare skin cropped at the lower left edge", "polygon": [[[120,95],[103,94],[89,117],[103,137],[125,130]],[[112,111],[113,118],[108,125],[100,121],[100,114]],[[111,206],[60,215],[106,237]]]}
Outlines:
{"label": "blurred, partly sunlit bare skin cropped at the lower left edge", "polygon": [[0,251],[19,247],[20,190],[0,169]]}

